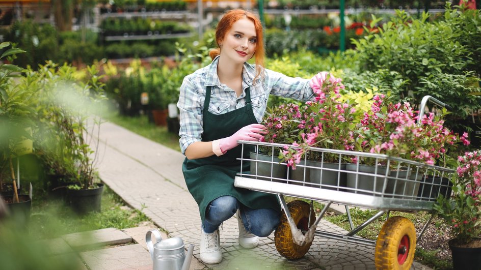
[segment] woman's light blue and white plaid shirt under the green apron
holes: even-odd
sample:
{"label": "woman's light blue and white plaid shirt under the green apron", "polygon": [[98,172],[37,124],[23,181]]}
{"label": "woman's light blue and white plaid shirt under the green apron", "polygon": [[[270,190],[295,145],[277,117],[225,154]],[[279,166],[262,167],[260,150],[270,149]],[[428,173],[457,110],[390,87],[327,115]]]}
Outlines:
{"label": "woman's light blue and white plaid shirt under the green apron", "polygon": [[179,143],[182,154],[191,143],[202,140],[203,123],[202,110],[206,87],[212,86],[208,111],[213,114],[224,114],[246,106],[246,88],[249,86],[252,108],[257,122],[262,122],[269,94],[310,100],[314,94],[309,86],[310,79],[291,78],[284,74],[264,69],[264,79],[259,76],[255,82],[256,70],[254,65],[244,63],[242,71],[243,93],[237,98],[235,91],[219,81],[217,65],[219,56],[210,65],[185,76],[180,86],[180,97],[177,107],[180,110]]}

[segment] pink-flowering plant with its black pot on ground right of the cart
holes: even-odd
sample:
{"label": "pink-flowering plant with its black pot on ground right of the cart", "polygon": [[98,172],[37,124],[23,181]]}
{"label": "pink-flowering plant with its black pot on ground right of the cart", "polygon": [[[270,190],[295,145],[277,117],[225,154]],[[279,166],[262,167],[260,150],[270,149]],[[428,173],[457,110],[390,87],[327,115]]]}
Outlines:
{"label": "pink-flowering plant with its black pot on ground right of the cart", "polygon": [[451,182],[452,195],[440,196],[433,208],[451,227],[454,268],[477,269],[481,265],[481,151],[458,157]]}

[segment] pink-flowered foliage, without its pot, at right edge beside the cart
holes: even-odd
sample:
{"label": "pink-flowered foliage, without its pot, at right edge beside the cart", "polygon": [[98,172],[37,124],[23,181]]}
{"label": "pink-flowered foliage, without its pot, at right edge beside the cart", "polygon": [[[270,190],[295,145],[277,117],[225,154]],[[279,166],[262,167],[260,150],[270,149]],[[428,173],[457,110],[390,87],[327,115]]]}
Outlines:
{"label": "pink-flowered foliage, without its pot, at right edge beside the cart", "polygon": [[[434,209],[450,226],[459,245],[481,237],[481,151],[458,157],[450,198],[440,196]],[[481,240],[479,240],[481,244]]]}

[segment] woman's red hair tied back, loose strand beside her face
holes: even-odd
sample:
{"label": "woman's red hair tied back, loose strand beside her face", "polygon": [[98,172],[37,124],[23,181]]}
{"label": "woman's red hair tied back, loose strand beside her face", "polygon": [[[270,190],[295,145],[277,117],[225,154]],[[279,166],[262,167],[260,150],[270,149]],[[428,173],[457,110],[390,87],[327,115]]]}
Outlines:
{"label": "woman's red hair tied back, loose strand beside her face", "polygon": [[236,21],[242,18],[247,18],[254,23],[254,28],[257,36],[256,50],[254,53],[255,64],[256,64],[255,78],[257,78],[262,73],[262,70],[264,68],[265,51],[264,51],[264,40],[263,40],[263,34],[262,34],[262,23],[253,13],[247,10],[233,9],[233,10],[229,10],[224,14],[222,19],[217,24],[217,28],[216,28],[216,43],[218,48],[210,50],[209,55],[213,60],[214,58],[216,58],[217,55],[221,53],[219,44],[224,40],[227,32],[229,32],[230,28],[232,28],[232,25]]}

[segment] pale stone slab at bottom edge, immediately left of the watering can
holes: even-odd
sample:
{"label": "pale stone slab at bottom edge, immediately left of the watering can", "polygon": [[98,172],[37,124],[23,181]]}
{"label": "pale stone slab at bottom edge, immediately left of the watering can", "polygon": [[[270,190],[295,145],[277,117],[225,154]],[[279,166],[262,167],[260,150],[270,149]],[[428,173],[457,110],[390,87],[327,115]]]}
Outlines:
{"label": "pale stone slab at bottom edge, immediately left of the watering can", "polygon": [[139,244],[86,251],[80,255],[91,270],[152,268],[149,252]]}

